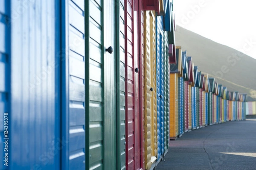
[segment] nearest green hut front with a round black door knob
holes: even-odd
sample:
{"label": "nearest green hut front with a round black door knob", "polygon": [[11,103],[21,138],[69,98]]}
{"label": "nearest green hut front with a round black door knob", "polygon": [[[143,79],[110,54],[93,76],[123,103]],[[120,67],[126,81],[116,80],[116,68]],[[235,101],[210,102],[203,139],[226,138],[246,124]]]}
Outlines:
{"label": "nearest green hut front with a round black door knob", "polygon": [[123,31],[119,26],[122,4],[112,0],[85,3],[85,26],[89,28],[85,33],[86,169],[123,169],[125,75],[124,58],[120,56],[124,40],[119,39]]}

